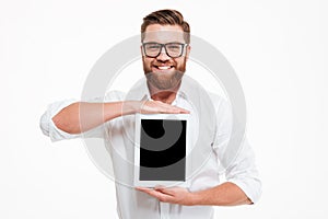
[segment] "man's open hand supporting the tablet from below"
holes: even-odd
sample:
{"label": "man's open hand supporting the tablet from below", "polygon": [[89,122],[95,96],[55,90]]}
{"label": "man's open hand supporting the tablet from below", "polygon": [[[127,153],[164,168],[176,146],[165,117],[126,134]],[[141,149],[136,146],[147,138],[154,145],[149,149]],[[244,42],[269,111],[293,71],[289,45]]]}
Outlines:
{"label": "man's open hand supporting the tablet from below", "polygon": [[191,206],[196,203],[196,195],[190,193],[187,188],[183,187],[155,187],[155,188],[145,188],[145,187],[136,187],[140,192],[144,192],[150,196],[157,198],[163,203],[178,204]]}

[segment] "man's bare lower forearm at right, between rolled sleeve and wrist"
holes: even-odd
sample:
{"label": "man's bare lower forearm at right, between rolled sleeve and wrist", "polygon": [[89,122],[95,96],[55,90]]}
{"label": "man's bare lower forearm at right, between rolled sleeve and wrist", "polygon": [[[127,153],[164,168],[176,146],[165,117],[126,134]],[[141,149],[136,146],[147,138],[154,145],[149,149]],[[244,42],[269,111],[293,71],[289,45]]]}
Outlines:
{"label": "man's bare lower forearm at right, between rolled sleeve and wrist", "polygon": [[191,194],[192,205],[236,206],[251,204],[235,184],[226,182],[215,187]]}

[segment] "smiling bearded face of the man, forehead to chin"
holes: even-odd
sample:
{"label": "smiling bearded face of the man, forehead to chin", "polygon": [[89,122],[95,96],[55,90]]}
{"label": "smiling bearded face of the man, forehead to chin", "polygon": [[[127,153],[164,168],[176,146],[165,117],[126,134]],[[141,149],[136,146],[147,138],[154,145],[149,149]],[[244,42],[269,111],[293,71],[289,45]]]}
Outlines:
{"label": "smiling bearded face of the man, forehead to chin", "polygon": [[[186,44],[184,38],[184,31],[178,25],[160,25],[151,24],[147,27],[144,33],[144,39],[142,43],[180,43]],[[168,48],[175,49],[174,45]],[[177,58],[169,57],[165,53],[165,48],[162,50],[157,57],[148,57],[144,54],[144,48],[142,49],[142,62],[143,71],[148,79],[154,88],[159,90],[172,90],[175,89],[186,71],[186,62],[190,51],[190,46],[183,46],[183,55]],[[152,49],[152,47],[150,47]]]}

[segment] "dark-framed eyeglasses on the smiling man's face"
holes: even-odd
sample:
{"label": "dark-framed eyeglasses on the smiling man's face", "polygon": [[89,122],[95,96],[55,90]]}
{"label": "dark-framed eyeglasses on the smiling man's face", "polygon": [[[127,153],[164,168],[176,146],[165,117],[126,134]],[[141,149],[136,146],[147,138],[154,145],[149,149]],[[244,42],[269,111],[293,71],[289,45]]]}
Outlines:
{"label": "dark-framed eyeglasses on the smiling man's face", "polygon": [[165,48],[165,53],[171,58],[178,58],[183,56],[184,48],[188,44],[181,43],[167,43],[167,44],[159,44],[159,43],[143,43],[143,51],[147,57],[156,58],[160,56],[162,48]]}

